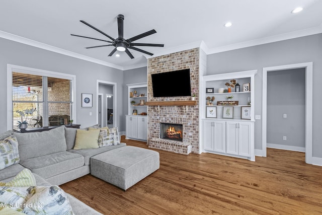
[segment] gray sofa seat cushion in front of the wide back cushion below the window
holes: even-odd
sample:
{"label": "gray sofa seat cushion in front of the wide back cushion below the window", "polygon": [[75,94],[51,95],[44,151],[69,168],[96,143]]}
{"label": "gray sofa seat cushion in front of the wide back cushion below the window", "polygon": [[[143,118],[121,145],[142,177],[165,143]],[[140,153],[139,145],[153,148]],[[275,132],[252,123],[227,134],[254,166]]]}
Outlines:
{"label": "gray sofa seat cushion in front of the wide back cushion below the window", "polygon": [[58,152],[20,161],[21,165],[44,179],[84,166],[84,157],[70,152]]}

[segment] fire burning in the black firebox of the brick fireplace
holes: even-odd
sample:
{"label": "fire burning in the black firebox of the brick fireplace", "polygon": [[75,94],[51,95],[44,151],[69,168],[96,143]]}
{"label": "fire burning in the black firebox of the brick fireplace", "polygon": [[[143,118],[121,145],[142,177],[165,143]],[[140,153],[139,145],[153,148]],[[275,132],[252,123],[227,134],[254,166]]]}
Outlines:
{"label": "fire burning in the black firebox of the brick fireplace", "polygon": [[182,124],[160,123],[160,137],[182,141]]}

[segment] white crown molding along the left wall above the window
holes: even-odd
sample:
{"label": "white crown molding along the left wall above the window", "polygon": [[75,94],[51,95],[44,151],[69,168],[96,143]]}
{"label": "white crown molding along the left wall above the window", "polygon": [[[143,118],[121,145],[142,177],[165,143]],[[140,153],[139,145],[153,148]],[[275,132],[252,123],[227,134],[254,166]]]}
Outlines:
{"label": "white crown molding along the left wall above the window", "polygon": [[48,50],[48,51],[56,52],[56,53],[59,53],[59,54],[67,55],[67,56],[70,56],[70,57],[75,57],[75,58],[78,58],[78,59],[87,60],[87,61],[90,61],[90,62],[94,62],[94,63],[98,63],[98,64],[101,64],[101,65],[105,65],[105,66],[109,66],[109,67],[112,67],[112,68],[123,70],[123,66],[119,66],[119,65],[116,65],[116,64],[113,64],[113,63],[109,63],[109,62],[99,60],[99,59],[96,59],[96,58],[93,58],[93,57],[88,57],[88,56],[85,56],[83,54],[77,54],[77,53],[72,52],[72,51],[67,51],[67,50],[62,49],[62,48],[57,48],[55,46],[51,46],[51,45],[48,45],[48,44],[45,44],[45,43],[37,42],[35,40],[27,39],[25,37],[21,37],[21,36],[11,34],[11,33],[7,33],[7,32],[4,32],[4,31],[0,31],[0,37],[2,37],[4,39],[15,41],[15,42],[23,43],[23,44],[26,44],[26,45],[34,46],[34,47],[37,47],[37,48],[45,49],[45,50]]}

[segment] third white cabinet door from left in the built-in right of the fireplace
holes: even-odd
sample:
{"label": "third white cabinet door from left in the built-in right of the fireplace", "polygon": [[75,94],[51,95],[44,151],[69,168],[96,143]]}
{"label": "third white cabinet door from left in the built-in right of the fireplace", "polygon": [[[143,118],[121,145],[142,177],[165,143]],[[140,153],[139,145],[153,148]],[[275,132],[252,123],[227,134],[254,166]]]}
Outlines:
{"label": "third white cabinet door from left in the built-in right of the fireplace", "polygon": [[238,123],[226,122],[227,154],[238,155]]}

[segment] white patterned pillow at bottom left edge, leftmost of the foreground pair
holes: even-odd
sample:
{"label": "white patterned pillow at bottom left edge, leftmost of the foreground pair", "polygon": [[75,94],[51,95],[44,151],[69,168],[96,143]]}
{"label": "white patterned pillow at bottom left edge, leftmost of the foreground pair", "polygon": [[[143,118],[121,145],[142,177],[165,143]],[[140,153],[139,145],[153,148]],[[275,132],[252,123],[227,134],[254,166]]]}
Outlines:
{"label": "white patterned pillow at bottom left edge, leftmost of the foreground pair", "polygon": [[23,204],[35,193],[35,187],[0,187],[2,207],[21,211]]}

